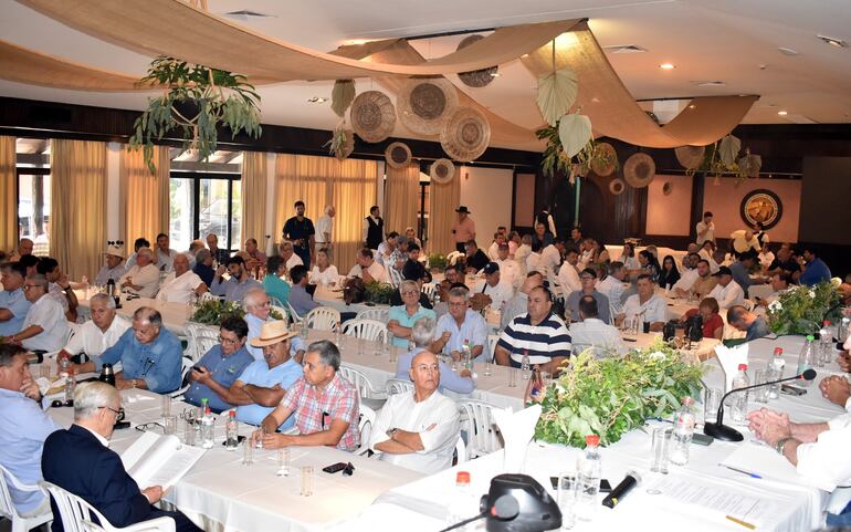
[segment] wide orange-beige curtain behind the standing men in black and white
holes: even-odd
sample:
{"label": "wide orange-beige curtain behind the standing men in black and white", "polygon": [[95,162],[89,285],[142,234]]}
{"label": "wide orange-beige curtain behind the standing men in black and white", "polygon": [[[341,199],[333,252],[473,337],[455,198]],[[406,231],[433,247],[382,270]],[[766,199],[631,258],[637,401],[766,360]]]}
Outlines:
{"label": "wide orange-beige curtain behind the standing men in black and white", "polygon": [[340,161],[333,157],[277,155],[275,240],[281,240],[281,230],[286,219],[294,216],[293,205],[297,200],[305,202],[305,216],[314,223],[326,205],[334,205],[337,216],[334,217],[332,261],[345,275],[363,243],[363,220],[376,201],[377,174],[375,160]]}

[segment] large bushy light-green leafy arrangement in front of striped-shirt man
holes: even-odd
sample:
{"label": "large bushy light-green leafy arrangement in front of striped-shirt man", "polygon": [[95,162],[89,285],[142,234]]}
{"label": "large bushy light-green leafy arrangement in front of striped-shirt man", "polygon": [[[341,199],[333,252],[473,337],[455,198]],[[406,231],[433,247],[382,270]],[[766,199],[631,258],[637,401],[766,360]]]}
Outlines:
{"label": "large bushy light-green leafy arrangement in front of striped-shirt man", "polygon": [[535,438],[584,448],[585,437],[596,434],[600,445],[614,444],[647,418],[668,417],[683,397],[696,396],[702,376],[702,366],[682,361],[661,340],[622,358],[595,359],[586,350],[545,390]]}

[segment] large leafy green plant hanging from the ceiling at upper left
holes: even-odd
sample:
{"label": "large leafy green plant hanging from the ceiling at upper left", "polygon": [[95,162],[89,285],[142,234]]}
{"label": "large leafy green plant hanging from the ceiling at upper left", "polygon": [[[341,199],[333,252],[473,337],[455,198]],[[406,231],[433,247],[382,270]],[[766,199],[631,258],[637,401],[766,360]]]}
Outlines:
{"label": "large leafy green plant hanging from the ceiling at upper left", "polygon": [[160,56],[150,63],[141,83],[162,87],[161,96],[148,100],[148,108],[133,125],[130,148],[144,147],[151,173],[154,143],[170,131],[182,133],[183,148],[198,152],[198,160],[216,153],[218,126],[231,135],[261,134],[260,95],[242,74]]}

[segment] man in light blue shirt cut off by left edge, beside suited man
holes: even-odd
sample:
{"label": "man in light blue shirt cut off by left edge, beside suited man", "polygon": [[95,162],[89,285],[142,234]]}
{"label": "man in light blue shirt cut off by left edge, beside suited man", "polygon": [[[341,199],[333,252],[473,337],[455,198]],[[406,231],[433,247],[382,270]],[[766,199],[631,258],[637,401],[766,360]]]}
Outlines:
{"label": "man in light blue shirt cut off by left edge, beside suited man", "polygon": [[[28,486],[41,480],[44,440],[62,428],[41,409],[40,399],[27,353],[19,345],[0,345],[0,465]],[[21,491],[7,483],[19,513],[33,517],[50,510],[40,490]]]}

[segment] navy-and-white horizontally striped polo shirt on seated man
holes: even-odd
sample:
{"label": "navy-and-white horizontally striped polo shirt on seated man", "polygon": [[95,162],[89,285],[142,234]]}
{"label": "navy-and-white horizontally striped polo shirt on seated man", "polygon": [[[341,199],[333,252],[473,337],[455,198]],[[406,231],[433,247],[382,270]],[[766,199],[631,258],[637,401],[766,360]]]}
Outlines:
{"label": "navy-and-white horizontally striped polo shirt on seated man", "polygon": [[546,364],[558,356],[570,356],[570,335],[565,322],[553,312],[540,323],[532,325],[528,313],[512,320],[496,344],[511,353],[512,366],[519,367],[523,352],[530,364]]}

